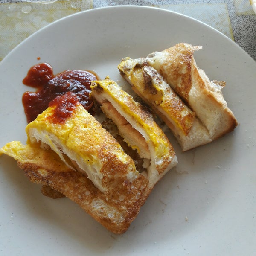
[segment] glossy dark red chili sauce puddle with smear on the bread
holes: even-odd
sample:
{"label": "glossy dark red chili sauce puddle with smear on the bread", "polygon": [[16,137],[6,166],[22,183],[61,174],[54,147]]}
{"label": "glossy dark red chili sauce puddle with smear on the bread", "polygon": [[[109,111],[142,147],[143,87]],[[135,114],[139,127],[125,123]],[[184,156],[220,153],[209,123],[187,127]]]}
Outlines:
{"label": "glossy dark red chili sauce puddle with smear on the bread", "polygon": [[[58,115],[55,116],[56,118],[58,116],[58,122],[63,122],[72,113],[77,102],[89,111],[93,105],[89,98],[90,83],[93,80],[97,80],[96,76],[84,70],[67,70],[54,76],[52,67],[47,63],[31,67],[23,79],[23,84],[35,87],[37,90],[25,92],[22,96],[27,122],[35,120],[49,104],[59,106],[56,108]],[[70,92],[67,96],[59,97],[67,92]],[[53,101],[56,97],[58,98]]]}

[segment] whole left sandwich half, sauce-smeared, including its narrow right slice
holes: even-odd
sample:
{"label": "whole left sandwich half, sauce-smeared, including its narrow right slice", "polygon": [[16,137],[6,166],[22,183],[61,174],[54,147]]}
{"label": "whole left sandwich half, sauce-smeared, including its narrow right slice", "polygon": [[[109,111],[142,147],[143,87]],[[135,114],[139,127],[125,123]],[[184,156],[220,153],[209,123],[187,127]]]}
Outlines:
{"label": "whole left sandwich half, sauce-smeared, including its narrow right slice", "polygon": [[70,92],[26,126],[26,145],[7,143],[0,154],[15,158],[32,182],[43,185],[44,195],[66,196],[111,232],[124,233],[177,157],[151,115],[113,81],[94,81],[92,90],[105,113],[125,127],[120,131],[128,134],[129,146],[145,159],[143,172]]}

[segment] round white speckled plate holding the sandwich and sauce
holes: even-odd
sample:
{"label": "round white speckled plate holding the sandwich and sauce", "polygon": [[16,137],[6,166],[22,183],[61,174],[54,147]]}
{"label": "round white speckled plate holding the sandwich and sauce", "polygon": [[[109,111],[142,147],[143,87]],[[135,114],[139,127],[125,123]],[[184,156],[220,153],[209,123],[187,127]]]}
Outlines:
{"label": "round white speckled plate holding the sandwich and sauce", "polygon": [[[209,26],[162,9],[118,6],[61,19],[35,33],[0,63],[0,146],[26,142],[22,79],[32,65],[54,72],[90,69],[121,85],[122,57],[178,42],[195,53],[223,90],[240,125],[227,136],[181,153],[123,235],[113,235],[69,199],[50,199],[9,157],[0,157],[0,254],[253,255],[256,251],[256,63]],[[179,174],[178,172],[183,172]]]}

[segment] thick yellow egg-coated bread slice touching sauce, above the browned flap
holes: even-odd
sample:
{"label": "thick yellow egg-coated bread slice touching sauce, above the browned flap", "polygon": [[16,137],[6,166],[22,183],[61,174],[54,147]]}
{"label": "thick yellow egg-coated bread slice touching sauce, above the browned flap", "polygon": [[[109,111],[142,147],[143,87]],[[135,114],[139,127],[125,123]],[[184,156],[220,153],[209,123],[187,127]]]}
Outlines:
{"label": "thick yellow egg-coated bread slice touching sauce, above the browned flap", "polygon": [[57,111],[58,105],[52,105],[27,125],[29,144],[48,145],[73,168],[66,159],[71,160],[73,169],[86,175],[108,199],[122,191],[124,182],[137,179],[140,174],[131,157],[79,102],[64,122],[55,122]]}

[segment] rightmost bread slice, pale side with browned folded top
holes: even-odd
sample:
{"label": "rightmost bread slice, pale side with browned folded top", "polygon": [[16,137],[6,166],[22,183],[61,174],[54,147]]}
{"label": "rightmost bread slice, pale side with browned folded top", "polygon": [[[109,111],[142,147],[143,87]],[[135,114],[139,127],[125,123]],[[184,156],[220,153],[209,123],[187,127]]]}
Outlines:
{"label": "rightmost bread slice, pale side with browned folded top", "polygon": [[180,43],[162,52],[149,54],[146,61],[195,111],[209,131],[211,139],[215,140],[233,131],[238,123],[227,107],[219,83],[210,81],[195,63],[194,51],[201,48]]}

